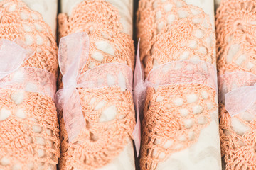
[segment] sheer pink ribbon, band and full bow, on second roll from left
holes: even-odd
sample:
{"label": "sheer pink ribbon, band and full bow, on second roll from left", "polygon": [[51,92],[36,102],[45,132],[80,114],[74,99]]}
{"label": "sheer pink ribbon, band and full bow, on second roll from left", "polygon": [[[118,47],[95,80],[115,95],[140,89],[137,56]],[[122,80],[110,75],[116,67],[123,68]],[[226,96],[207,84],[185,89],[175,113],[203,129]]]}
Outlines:
{"label": "sheer pink ribbon, band and full bow, on second roll from left", "polygon": [[56,94],[56,105],[58,111],[63,110],[69,142],[74,142],[86,125],[78,88],[118,86],[132,93],[132,69],[129,66],[120,63],[100,64],[82,74],[88,55],[87,33],[74,33],[60,39],[59,65],[63,74],[63,89]]}

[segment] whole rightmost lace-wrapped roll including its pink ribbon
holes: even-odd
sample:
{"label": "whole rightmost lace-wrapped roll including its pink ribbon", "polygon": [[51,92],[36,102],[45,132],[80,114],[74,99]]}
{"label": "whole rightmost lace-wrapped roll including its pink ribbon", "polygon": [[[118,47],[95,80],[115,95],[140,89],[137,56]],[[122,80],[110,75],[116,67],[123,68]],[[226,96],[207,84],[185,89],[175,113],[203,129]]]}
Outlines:
{"label": "whole rightmost lace-wrapped roll including its pink ribbon", "polygon": [[221,1],[216,14],[224,169],[256,169],[255,1]]}

